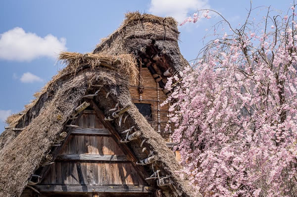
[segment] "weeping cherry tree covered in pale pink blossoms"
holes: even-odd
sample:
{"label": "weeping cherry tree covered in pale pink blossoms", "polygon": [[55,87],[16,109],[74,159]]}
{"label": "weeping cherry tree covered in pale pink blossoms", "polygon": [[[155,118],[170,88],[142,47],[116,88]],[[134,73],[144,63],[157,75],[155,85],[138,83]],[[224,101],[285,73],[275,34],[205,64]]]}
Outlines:
{"label": "weeping cherry tree covered in pale pink blossoms", "polygon": [[231,33],[216,32],[194,65],[168,80],[172,138],[205,197],[297,196],[295,5],[283,15],[268,8],[258,24],[250,9],[237,28],[215,12],[214,28]]}

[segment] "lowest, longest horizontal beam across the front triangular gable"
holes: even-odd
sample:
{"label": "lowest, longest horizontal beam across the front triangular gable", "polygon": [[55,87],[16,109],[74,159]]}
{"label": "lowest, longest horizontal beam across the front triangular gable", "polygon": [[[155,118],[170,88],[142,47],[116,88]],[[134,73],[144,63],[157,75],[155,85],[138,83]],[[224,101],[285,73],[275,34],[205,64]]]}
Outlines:
{"label": "lowest, longest horizontal beam across the front triangular gable", "polygon": [[91,192],[91,193],[152,193],[150,186],[102,186],[102,185],[35,185],[39,192]]}

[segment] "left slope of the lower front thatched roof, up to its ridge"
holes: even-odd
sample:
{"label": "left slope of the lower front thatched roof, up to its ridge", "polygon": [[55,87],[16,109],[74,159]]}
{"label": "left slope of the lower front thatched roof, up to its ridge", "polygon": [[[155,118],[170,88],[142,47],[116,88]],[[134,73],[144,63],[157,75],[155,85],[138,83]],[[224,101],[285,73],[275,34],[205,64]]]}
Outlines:
{"label": "left slope of the lower front thatched roof, up to its ridge", "polygon": [[[77,53],[73,55],[77,56]],[[0,135],[1,197],[19,196],[22,193],[31,175],[43,163],[56,137],[65,130],[73,110],[92,85],[100,84],[106,88],[126,86],[127,76],[119,68],[128,67],[129,61],[123,56],[99,54],[97,57],[96,61],[100,59],[98,64],[86,62],[88,64],[82,63],[76,68],[69,65],[61,70],[21,115],[8,118],[13,121],[10,122],[9,129]],[[130,55],[125,57],[133,60]],[[115,63],[114,60],[119,58],[121,60]],[[116,70],[111,70],[102,63],[114,66]],[[133,61],[131,64],[135,65]],[[19,133],[14,128],[23,130]]]}

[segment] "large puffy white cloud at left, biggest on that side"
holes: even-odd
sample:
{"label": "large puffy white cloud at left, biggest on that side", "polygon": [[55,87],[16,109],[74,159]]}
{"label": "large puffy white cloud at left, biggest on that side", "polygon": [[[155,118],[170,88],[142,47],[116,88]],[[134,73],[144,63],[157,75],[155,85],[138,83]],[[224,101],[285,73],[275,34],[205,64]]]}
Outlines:
{"label": "large puffy white cloud at left, biggest on that side", "polygon": [[56,58],[56,55],[66,50],[66,39],[56,38],[51,34],[42,38],[20,27],[15,27],[0,34],[0,59],[30,61],[46,56]]}

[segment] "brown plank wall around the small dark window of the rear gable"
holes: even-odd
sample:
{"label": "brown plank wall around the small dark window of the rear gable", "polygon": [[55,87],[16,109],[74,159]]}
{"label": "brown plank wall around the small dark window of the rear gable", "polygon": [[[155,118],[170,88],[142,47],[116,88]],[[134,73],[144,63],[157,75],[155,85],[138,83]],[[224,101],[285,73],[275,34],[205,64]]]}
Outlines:
{"label": "brown plank wall around the small dark window of the rear gable", "polygon": [[[151,76],[147,67],[142,68],[142,78],[143,78],[143,86],[144,92],[142,94],[142,101],[139,100],[139,89],[138,85],[131,85],[129,88],[131,98],[134,103],[148,103],[151,106],[152,113],[152,121],[148,123],[152,126],[152,128],[157,131],[158,130],[158,119],[157,119],[157,83]],[[162,92],[162,89],[159,88],[159,96],[160,96],[160,104],[167,99],[166,95]],[[161,120],[161,136],[164,138],[166,142],[170,142],[168,131],[164,131],[166,124],[168,122],[168,104],[164,106],[160,106],[160,120]]]}

